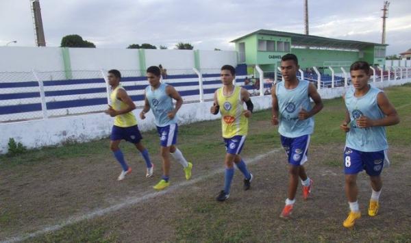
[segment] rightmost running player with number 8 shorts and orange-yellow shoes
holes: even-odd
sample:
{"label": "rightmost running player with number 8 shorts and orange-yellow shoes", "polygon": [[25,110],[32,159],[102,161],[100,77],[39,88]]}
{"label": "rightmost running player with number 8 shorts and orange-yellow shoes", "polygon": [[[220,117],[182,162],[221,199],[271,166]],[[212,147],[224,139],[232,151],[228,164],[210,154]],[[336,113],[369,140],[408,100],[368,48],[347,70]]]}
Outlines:
{"label": "rightmost running player with number 8 shorts and orange-yellow shoes", "polygon": [[351,86],[345,96],[345,120],[340,129],[347,133],[344,150],[345,194],[350,213],[343,226],[351,228],[361,217],[358,207],[357,174],[363,169],[371,181],[369,216],[377,215],[381,193],[381,172],[389,164],[385,126],[399,123],[395,107],[382,90],[368,84],[370,66],[354,62],[350,67]]}

